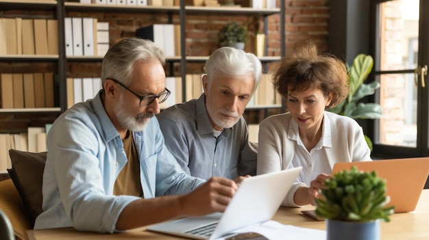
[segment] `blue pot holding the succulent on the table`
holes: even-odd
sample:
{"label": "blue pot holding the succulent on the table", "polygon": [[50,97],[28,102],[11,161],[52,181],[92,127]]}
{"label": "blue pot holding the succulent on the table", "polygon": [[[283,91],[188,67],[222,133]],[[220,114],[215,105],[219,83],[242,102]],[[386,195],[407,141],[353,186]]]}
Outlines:
{"label": "blue pot holding the succulent on the table", "polygon": [[380,240],[380,220],[348,222],[326,220],[327,240]]}

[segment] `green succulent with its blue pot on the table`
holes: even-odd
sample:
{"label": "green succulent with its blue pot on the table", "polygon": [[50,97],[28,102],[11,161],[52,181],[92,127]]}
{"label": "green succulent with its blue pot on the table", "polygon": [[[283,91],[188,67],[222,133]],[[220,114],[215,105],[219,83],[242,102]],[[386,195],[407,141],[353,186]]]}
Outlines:
{"label": "green succulent with its blue pot on the table", "polygon": [[378,240],[380,219],[389,222],[394,206],[387,207],[386,183],[376,172],[337,172],[324,181],[316,214],[326,219],[327,239]]}

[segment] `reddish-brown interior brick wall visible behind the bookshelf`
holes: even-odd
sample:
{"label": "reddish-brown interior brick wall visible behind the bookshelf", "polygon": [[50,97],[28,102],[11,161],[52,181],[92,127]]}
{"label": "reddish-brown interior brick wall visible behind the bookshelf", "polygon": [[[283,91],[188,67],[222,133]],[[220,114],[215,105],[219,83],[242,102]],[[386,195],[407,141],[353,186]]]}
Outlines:
{"label": "reddish-brown interior brick wall visible behind the bookshelf", "polygon": [[[278,0],[280,5],[280,0]],[[286,52],[306,40],[317,40],[321,49],[326,49],[328,38],[329,1],[328,0],[285,0],[285,46]],[[15,17],[22,14],[17,11],[0,12],[3,17]],[[34,14],[34,12],[33,12]],[[49,17],[49,12],[42,12]],[[134,31],[138,27],[144,27],[153,23],[168,23],[167,14],[124,14],[116,12],[66,12],[66,16],[90,16],[98,18],[98,21],[108,21],[110,24],[110,44],[120,38],[134,36]],[[52,18],[51,16],[50,18]],[[256,31],[260,31],[263,19],[255,16],[234,16],[234,15],[210,15],[201,14],[197,16],[186,16],[186,55],[199,56],[210,55],[217,49],[217,33],[223,24],[230,21],[242,23],[249,30],[249,40],[246,44],[246,51],[253,51],[252,38]],[[179,16],[173,16],[173,23],[179,24]],[[280,55],[280,17],[269,16],[268,18],[268,52],[269,56]],[[10,64],[0,62],[1,72],[21,72],[51,69],[51,64],[28,63]],[[187,64],[186,72],[202,72],[204,64]],[[101,70],[100,63],[94,62],[69,62],[67,66],[68,77],[99,77]],[[180,70],[178,63],[174,64],[175,74]],[[245,117],[249,122],[260,122],[265,116],[277,114],[279,110],[247,111]],[[20,132],[26,131],[27,126],[38,126],[47,122],[52,122],[56,114],[0,114],[0,132]]]}

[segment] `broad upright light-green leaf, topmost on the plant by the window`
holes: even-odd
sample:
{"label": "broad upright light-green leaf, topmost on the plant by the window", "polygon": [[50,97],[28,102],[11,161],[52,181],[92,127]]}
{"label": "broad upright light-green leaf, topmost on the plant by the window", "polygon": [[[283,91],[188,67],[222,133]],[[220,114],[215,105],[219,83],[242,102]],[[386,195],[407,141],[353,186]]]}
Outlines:
{"label": "broad upright light-green leaf, topmost on the plant by the window", "polygon": [[353,100],[354,93],[360,85],[367,79],[369,72],[373,66],[373,59],[370,55],[359,54],[353,61],[353,66],[350,68],[350,92],[349,102]]}

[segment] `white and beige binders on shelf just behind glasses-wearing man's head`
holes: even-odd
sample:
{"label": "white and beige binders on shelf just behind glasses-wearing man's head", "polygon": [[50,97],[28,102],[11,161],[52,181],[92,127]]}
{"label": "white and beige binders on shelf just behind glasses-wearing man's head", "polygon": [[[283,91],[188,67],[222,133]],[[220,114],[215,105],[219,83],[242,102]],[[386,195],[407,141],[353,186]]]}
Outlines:
{"label": "white and beige binders on shelf just behind glasses-wearing man's head", "polygon": [[157,44],[166,57],[180,56],[180,25],[154,24],[140,27],[136,37],[149,39]]}

